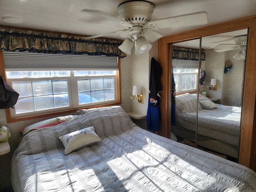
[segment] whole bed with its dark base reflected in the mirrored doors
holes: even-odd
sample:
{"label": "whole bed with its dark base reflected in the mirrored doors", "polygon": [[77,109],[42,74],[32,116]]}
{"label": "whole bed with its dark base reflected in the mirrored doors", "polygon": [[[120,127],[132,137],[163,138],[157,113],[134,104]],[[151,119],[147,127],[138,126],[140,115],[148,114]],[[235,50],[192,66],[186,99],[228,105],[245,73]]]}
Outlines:
{"label": "whole bed with its dark base reflected in the mirrored doors", "polygon": [[[241,108],[214,104],[209,98],[200,95],[199,102],[201,101],[208,101],[216,108],[209,109],[203,108],[202,104],[198,105],[198,146],[237,158]],[[172,127],[172,133],[195,141],[196,111],[196,94],[176,96],[176,126]]]}

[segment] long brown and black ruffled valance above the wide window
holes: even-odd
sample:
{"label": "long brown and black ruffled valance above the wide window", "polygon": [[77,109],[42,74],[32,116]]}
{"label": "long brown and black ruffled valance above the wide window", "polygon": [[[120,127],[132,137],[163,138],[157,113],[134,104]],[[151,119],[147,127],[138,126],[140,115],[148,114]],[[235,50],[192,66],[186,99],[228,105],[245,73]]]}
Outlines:
{"label": "long brown and black ruffled valance above the wide window", "polygon": [[49,54],[88,54],[125,57],[118,49],[120,40],[86,39],[31,30],[18,30],[0,26],[0,49],[8,51],[28,51]]}

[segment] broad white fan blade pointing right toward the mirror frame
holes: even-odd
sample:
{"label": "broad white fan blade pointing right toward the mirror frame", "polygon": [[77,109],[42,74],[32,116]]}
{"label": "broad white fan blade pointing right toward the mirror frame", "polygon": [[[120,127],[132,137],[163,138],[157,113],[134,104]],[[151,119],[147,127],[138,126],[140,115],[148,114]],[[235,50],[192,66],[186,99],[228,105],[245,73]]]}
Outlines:
{"label": "broad white fan blade pointing right toward the mirror frame", "polygon": [[208,23],[207,13],[203,11],[203,12],[197,12],[192,14],[186,14],[186,15],[151,21],[151,22],[148,22],[147,27],[150,29],[173,28],[173,27],[177,28],[177,27],[183,27],[183,26],[205,25],[207,23]]}

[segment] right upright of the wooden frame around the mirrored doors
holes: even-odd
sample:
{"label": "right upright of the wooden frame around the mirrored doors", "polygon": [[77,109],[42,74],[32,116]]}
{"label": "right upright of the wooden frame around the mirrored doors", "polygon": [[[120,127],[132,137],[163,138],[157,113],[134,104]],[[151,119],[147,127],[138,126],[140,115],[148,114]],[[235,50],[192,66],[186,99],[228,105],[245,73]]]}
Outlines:
{"label": "right upright of the wooden frame around the mirrored doors", "polygon": [[256,17],[250,19],[245,66],[239,163],[256,171]]}

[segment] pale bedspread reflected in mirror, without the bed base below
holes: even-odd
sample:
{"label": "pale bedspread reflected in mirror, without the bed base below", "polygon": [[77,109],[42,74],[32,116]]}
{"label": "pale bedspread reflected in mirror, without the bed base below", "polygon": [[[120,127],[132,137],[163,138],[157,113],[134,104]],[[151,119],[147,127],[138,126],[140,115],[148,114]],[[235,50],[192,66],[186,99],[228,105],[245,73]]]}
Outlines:
{"label": "pale bedspread reflected in mirror, without the bed base below", "polygon": [[[200,100],[209,100],[205,96]],[[196,131],[196,95],[184,94],[176,97],[176,123],[188,130]],[[199,106],[198,134],[238,146],[240,138],[241,108],[216,104],[208,110]]]}

